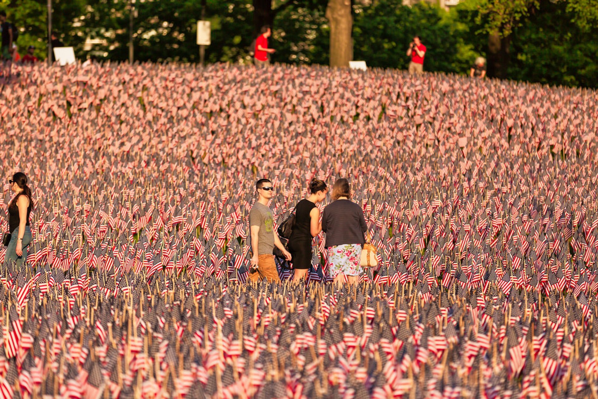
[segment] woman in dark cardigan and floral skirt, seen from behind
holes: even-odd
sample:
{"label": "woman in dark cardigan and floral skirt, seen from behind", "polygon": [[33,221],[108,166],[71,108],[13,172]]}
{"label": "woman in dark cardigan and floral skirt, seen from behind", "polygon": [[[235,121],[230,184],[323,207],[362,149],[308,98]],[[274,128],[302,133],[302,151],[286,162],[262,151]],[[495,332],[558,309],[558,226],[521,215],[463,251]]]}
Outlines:
{"label": "woman in dark cardigan and floral skirt, seen from behind", "polygon": [[334,282],[349,284],[359,281],[361,248],[365,243],[364,211],[350,200],[351,187],[347,179],[338,179],[332,187],[332,200],[322,212],[322,231],[326,233],[328,275]]}

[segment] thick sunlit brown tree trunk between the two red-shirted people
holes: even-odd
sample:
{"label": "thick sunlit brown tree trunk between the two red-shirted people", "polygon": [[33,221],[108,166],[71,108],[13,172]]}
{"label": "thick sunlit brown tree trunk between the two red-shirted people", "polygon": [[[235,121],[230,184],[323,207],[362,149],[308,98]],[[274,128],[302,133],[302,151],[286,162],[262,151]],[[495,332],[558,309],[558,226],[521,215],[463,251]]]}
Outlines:
{"label": "thick sunlit brown tree trunk between the two red-shirted people", "polygon": [[330,66],[347,67],[353,52],[351,0],[328,0],[326,18],[330,23]]}

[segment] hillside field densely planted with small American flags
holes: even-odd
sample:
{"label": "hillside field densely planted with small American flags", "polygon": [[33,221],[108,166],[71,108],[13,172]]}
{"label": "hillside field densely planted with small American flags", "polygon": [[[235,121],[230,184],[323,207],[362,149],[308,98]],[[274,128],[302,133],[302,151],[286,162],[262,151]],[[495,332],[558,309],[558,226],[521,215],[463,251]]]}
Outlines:
{"label": "hillside field densely planted with small American flags", "polygon": [[[0,273],[0,397],[598,396],[596,92],[318,66],[19,72],[0,159],[36,208],[28,267]],[[246,285],[255,180],[280,223],[313,176],[350,179],[380,266],[325,284],[319,236],[307,287]]]}

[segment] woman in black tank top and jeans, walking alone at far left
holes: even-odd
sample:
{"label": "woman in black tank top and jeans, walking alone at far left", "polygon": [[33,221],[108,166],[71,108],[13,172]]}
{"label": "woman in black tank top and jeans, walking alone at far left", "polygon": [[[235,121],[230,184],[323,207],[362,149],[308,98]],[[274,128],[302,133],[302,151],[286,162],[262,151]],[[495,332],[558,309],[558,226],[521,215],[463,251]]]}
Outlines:
{"label": "woman in black tank top and jeans, walking alone at far left", "polygon": [[29,215],[33,209],[31,189],[27,185],[25,173],[14,173],[8,181],[15,196],[8,203],[8,229],[10,243],[4,255],[4,261],[16,261],[21,266],[27,259],[29,243],[31,242],[31,229],[29,228]]}

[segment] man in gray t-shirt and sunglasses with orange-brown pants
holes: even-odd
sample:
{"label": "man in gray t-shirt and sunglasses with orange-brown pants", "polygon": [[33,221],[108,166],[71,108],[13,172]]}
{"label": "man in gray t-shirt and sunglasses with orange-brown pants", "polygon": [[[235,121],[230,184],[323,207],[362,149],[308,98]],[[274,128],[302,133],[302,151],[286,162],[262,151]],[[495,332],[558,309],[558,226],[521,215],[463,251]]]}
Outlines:
{"label": "man in gray t-shirt and sunglasses with orange-brown pants", "polygon": [[255,184],[258,200],[249,211],[249,229],[251,232],[251,270],[249,279],[258,281],[266,278],[269,282],[280,282],[274,255],[274,245],[285,255],[286,260],[291,260],[291,254],[282,245],[278,234],[274,232],[274,219],[268,203],[274,194],[274,187],[269,179],[260,179]]}

